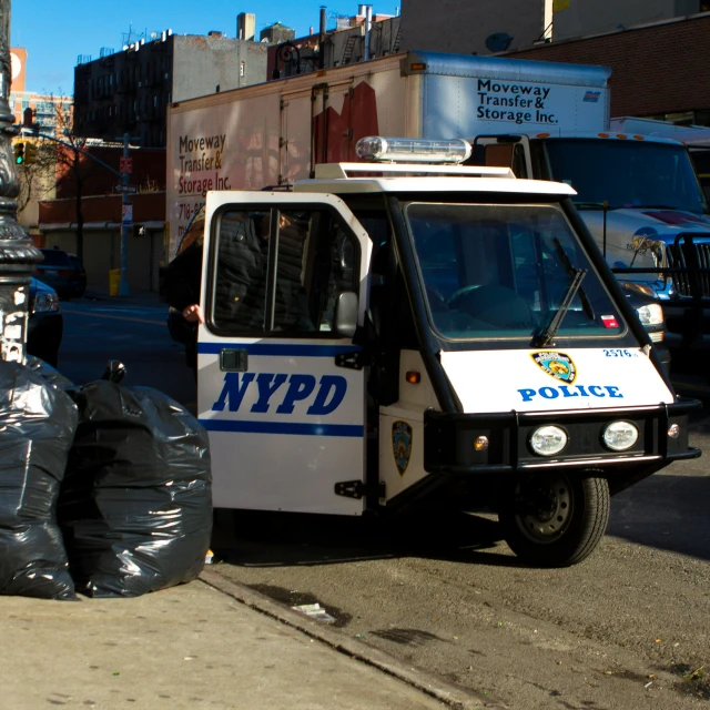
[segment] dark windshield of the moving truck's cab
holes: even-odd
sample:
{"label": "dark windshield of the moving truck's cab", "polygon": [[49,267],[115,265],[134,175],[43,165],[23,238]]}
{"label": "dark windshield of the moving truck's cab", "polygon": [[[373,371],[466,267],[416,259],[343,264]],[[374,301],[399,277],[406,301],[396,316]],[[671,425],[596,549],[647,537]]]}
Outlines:
{"label": "dark windshield of the moving truck's cab", "polygon": [[619,140],[544,142],[550,180],[576,191],[580,207],[707,210],[688,152],[681,145]]}

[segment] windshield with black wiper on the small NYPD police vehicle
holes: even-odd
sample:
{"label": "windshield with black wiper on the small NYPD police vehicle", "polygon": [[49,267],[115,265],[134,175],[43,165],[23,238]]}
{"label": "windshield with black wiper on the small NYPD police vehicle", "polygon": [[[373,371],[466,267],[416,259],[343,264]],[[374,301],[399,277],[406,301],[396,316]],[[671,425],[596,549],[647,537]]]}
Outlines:
{"label": "windshield with black wiper on the small NYPD police vehicle", "polygon": [[[405,215],[430,318],[444,337],[519,337],[527,346],[570,294],[559,337],[622,332],[621,316],[557,207],[412,202]],[[587,273],[575,292],[580,270]]]}

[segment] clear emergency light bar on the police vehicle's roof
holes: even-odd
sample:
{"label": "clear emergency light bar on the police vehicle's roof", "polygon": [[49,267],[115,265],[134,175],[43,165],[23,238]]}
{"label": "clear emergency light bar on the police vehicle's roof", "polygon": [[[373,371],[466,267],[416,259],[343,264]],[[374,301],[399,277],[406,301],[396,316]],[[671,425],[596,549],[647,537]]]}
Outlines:
{"label": "clear emergency light bar on the police vehicle's roof", "polygon": [[470,158],[471,145],[460,139],[433,141],[369,135],[357,141],[355,150],[359,158],[373,162],[463,163]]}

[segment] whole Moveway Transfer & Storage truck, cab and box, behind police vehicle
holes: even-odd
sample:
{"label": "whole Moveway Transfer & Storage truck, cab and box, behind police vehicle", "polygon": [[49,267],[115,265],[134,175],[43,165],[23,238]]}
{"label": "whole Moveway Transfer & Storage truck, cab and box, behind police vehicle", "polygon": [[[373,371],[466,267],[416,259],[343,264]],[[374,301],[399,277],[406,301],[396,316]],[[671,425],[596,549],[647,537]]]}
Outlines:
{"label": "whole Moveway Transfer & Storage truck, cab and box, behind police vehicle", "polygon": [[622,284],[662,304],[672,345],[703,342],[710,220],[686,148],[609,131],[604,67],[409,52],[173,104],[170,253],[210,190],[286,187],[357,160],[367,135],[464,138],[473,162],[571,184]]}

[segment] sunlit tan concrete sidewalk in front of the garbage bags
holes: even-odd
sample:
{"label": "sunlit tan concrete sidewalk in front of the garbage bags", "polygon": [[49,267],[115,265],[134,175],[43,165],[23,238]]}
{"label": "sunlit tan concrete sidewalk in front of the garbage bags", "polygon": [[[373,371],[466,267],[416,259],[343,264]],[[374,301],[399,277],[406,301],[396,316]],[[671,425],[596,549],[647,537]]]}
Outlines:
{"label": "sunlit tan concrete sidewalk in front of the garbage bags", "polygon": [[201,580],[135,599],[0,597],[0,638],[13,710],[447,707]]}

